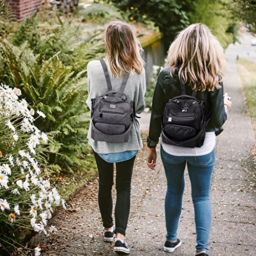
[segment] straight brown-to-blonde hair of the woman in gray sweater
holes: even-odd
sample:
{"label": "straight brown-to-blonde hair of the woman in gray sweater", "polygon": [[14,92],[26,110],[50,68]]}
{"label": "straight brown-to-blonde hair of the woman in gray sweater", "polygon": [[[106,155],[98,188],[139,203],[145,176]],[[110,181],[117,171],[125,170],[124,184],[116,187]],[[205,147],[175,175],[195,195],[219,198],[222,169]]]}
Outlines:
{"label": "straight brown-to-blonde hair of the woman in gray sweater", "polygon": [[144,61],[143,51],[133,28],[119,21],[110,22],[105,30],[105,60],[116,76],[134,71],[141,73]]}

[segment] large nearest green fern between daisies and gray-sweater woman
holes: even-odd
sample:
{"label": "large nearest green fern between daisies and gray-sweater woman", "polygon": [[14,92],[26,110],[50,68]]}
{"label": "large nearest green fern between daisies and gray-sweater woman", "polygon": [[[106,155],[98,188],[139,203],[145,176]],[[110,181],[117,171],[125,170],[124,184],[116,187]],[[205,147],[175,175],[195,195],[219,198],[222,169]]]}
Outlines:
{"label": "large nearest green fern between daisies and gray-sweater woman", "polygon": [[[26,49],[26,42],[20,47],[7,40],[0,43],[2,61],[6,63],[5,77],[11,77],[12,86],[19,87],[33,109],[41,109],[47,119],[36,121],[44,132],[59,132],[49,145],[47,160],[50,164],[65,166],[79,164],[81,152],[88,149],[86,134],[90,113],[86,106],[86,79],[81,71],[74,71],[62,64],[58,53],[42,65],[39,55]],[[59,168],[59,167],[58,167]]]}

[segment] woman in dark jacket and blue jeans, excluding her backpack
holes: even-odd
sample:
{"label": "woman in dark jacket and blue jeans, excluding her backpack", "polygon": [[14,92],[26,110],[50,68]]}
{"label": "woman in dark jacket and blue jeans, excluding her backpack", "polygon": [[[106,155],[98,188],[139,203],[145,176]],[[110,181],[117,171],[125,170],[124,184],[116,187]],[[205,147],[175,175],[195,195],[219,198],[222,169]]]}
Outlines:
{"label": "woman in dark jacket and blue jeans, excluding her backpack", "polygon": [[[197,93],[197,100],[205,102],[205,118],[208,117],[209,120],[206,123],[205,139],[201,147],[179,146],[161,140],[161,158],[167,179],[165,197],[167,232],[164,244],[166,252],[173,252],[181,245],[181,240],[177,237],[177,229],[182,209],[184,170],[187,165],[195,209],[196,253],[201,256],[208,255],[211,228],[210,183],[215,164],[215,137],[222,132],[222,125],[227,119],[227,112],[231,106],[227,94],[223,99],[222,77],[225,65],[226,61],[219,41],[206,25],[198,23],[190,25],[177,35],[168,50],[165,69],[158,77],[153,97],[150,132],[147,137],[148,167],[155,169],[156,166],[156,145],[162,131],[161,118],[169,99],[183,95],[184,89],[186,95]],[[198,102],[197,100],[195,102]],[[179,111],[178,107],[177,109]],[[180,109],[179,117],[187,117],[187,109]],[[170,117],[168,122],[174,123],[175,120],[180,119]]]}

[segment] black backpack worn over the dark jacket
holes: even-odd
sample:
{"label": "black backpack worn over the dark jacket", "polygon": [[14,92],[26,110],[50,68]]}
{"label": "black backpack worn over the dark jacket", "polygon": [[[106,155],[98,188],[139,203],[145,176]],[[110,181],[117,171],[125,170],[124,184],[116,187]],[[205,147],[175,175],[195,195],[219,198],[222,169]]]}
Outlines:
{"label": "black backpack worn over the dark jacket", "polygon": [[162,116],[162,141],[167,144],[183,147],[201,147],[205,139],[205,127],[210,113],[205,116],[205,102],[186,95],[182,80],[181,95],[169,99]]}

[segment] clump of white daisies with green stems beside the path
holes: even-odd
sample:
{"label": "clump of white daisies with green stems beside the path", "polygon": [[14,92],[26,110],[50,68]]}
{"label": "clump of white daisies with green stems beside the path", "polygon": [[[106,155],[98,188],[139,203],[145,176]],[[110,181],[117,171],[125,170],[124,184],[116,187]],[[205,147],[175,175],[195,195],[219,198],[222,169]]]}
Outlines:
{"label": "clump of white daisies with green stems beside the path", "polygon": [[[21,91],[0,85],[0,241],[8,251],[16,244],[15,228],[30,228],[47,234],[47,221],[53,207],[65,207],[56,188],[50,184],[47,166],[40,163],[41,146],[48,136],[33,122],[45,114],[28,109]],[[39,118],[40,117],[40,118]],[[54,232],[51,227],[49,232]]]}

